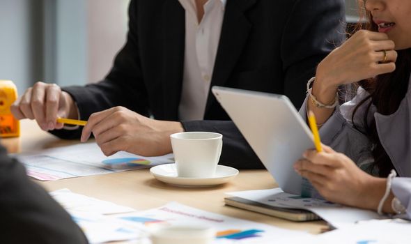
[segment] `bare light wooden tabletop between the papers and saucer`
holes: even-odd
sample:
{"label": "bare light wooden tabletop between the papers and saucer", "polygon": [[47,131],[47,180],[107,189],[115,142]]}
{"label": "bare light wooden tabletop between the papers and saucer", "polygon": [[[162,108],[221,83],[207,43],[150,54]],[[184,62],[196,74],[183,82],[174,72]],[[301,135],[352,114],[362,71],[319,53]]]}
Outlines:
{"label": "bare light wooden tabletop between the papers and saucer", "polygon": [[[35,122],[28,120],[21,121],[21,136],[19,138],[2,139],[1,142],[8,148],[9,152],[13,153],[76,143],[78,142],[58,139],[43,132]],[[212,188],[178,188],[167,185],[153,178],[148,169],[68,178],[59,181],[39,181],[39,183],[49,191],[68,188],[72,192],[112,201],[137,210],[159,207],[169,201],[178,201],[181,204],[213,213],[271,224],[276,227],[305,230],[313,234],[318,234],[321,229],[327,227],[323,221],[297,223],[224,206],[224,197],[226,197],[224,192],[277,187],[274,179],[266,170],[242,170],[230,183]]]}

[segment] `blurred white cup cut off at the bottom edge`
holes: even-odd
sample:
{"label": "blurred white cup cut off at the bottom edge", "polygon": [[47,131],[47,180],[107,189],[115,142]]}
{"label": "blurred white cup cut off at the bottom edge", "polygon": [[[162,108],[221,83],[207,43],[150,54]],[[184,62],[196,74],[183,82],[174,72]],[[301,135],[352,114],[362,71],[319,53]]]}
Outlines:
{"label": "blurred white cup cut off at the bottom edge", "polygon": [[215,230],[201,225],[160,227],[150,234],[152,244],[211,244]]}

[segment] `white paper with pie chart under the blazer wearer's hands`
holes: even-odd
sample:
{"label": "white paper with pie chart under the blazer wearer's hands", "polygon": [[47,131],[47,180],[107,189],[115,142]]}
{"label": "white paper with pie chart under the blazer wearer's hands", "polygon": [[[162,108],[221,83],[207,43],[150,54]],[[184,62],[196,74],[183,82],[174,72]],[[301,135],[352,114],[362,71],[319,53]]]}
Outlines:
{"label": "white paper with pie chart under the blazer wearer's hands", "polygon": [[[121,151],[106,157],[95,143],[50,148],[36,153],[16,154],[15,157],[26,166],[29,176],[41,181],[93,176],[128,169],[144,169],[173,162],[173,154],[161,157],[143,157]],[[113,169],[102,163],[103,160],[122,158],[147,160],[149,163],[147,165],[133,166],[128,169]]]}

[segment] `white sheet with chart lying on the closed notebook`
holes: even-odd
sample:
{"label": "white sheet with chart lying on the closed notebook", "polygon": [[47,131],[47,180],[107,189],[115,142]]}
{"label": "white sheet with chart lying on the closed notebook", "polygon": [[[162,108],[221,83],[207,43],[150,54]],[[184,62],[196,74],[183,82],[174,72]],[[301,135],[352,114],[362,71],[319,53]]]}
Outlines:
{"label": "white sheet with chart lying on the closed notebook", "polygon": [[352,224],[361,220],[373,220],[382,218],[374,211],[342,206],[323,199],[300,197],[283,192],[280,188],[228,192],[227,194],[235,197],[249,199],[251,201],[258,201],[262,204],[267,204],[270,206],[306,209],[313,213],[316,213],[316,215],[319,215],[321,218],[323,218],[323,220],[327,221],[329,224],[336,228],[343,227],[346,224]]}

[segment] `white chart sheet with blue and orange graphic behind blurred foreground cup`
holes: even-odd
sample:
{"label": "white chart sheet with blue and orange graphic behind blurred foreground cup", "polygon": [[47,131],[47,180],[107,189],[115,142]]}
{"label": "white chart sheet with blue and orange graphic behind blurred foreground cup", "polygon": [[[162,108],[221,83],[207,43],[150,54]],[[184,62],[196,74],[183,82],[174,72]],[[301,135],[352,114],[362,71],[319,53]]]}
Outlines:
{"label": "white chart sheet with blue and orange graphic behind blurred foreground cup", "polygon": [[[281,229],[258,222],[231,218],[177,202],[139,213],[127,213],[117,216],[117,218],[134,224],[137,229],[144,228],[148,232],[150,229],[162,225],[201,224],[210,226],[217,231],[215,243],[273,243],[273,241],[281,243],[284,238],[311,236],[307,232]],[[232,234],[223,234],[228,232],[232,232]]]}

